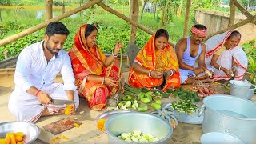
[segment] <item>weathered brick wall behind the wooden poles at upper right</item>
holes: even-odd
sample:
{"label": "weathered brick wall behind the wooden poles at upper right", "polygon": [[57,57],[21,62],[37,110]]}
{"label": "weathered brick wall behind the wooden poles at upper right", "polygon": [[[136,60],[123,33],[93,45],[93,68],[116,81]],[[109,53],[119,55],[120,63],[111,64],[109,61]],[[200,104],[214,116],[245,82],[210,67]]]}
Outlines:
{"label": "weathered brick wall behind the wooden poles at upper right", "polygon": [[[195,10],[195,22],[205,25],[209,34],[225,29],[229,25],[229,13],[213,12],[207,10]],[[244,16],[236,15],[235,23],[245,19]],[[256,39],[256,25],[254,23],[247,23],[237,29],[242,34],[241,45]]]}

